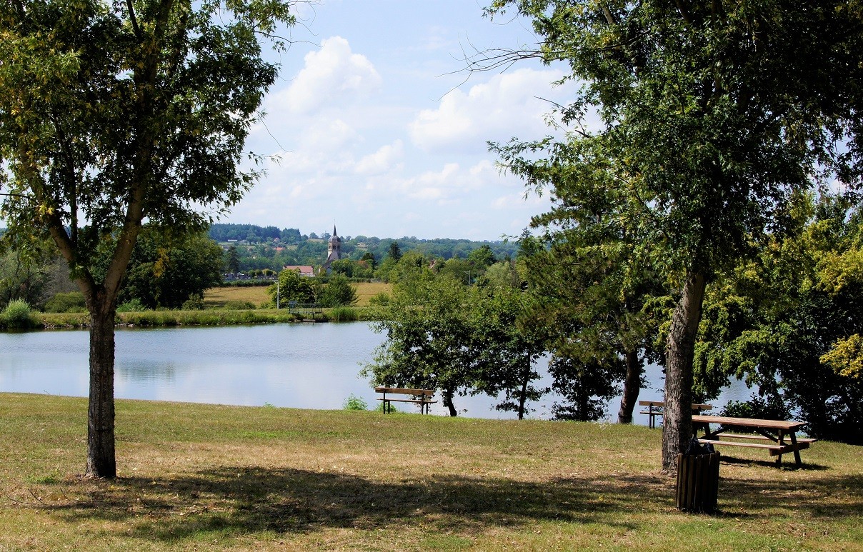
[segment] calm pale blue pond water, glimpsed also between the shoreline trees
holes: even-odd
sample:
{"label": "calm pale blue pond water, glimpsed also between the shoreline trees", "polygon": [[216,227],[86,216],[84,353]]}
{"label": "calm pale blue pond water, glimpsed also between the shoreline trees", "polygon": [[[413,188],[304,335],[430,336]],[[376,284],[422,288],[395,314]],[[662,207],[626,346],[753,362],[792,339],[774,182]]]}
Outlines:
{"label": "calm pale blue pond water, glimpsed also between the shoreline trees", "polygon": [[[382,341],[367,323],[117,329],[115,396],[340,409],[353,394],[375,405],[374,389],[358,373]],[[83,330],[0,333],[0,392],[86,397],[88,354]],[[639,398],[661,399],[661,368],[649,366],[646,375],[649,384]],[[734,382],[712,404],[721,408],[749,395],[745,384]],[[548,417],[554,400],[546,396],[531,405],[531,417]],[[495,411],[495,402],[485,395],[455,400],[460,416],[515,417]],[[619,405],[619,397],[609,402],[608,419],[616,419]],[[445,413],[439,402],[431,412]],[[635,418],[647,423],[646,416]]]}

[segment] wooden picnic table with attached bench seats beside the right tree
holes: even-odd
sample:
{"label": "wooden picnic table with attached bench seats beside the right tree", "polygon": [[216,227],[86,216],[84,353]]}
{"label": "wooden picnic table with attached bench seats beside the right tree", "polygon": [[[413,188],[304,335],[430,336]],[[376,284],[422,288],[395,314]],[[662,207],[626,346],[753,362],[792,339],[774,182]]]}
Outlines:
{"label": "wooden picnic table with attached bench seats beside the right tree", "polygon": [[[726,416],[700,416],[692,417],[693,433],[696,433],[695,424],[702,424],[704,435],[698,438],[698,442],[714,445],[732,445],[734,447],[746,447],[750,449],[766,449],[771,456],[776,456],[776,467],[782,465],[782,455],[793,452],[797,467],[801,466],[800,451],[809,449],[809,443],[816,439],[809,437],[797,437],[799,430],[805,422],[794,420],[759,420],[749,417],[726,417]],[[715,431],[710,431],[711,423],[719,423]],[[758,435],[743,433],[728,433],[729,428],[745,428],[758,432]],[[723,441],[726,439],[740,439],[740,441]],[[786,440],[787,439],[787,440]],[[756,441],[756,442],[753,442]]]}

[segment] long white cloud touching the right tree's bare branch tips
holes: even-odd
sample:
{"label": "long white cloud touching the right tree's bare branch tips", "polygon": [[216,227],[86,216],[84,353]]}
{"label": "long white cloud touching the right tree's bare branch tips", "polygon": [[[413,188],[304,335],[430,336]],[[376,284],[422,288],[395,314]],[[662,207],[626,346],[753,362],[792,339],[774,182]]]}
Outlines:
{"label": "long white cloud touching the right tree's bare branch tips", "polygon": [[437,110],[422,110],[410,124],[413,143],[427,152],[478,152],[486,141],[506,141],[548,134],[544,116],[552,105],[540,97],[565,103],[567,87],[552,87],[557,70],[520,69],[495,75],[465,93],[451,91]]}

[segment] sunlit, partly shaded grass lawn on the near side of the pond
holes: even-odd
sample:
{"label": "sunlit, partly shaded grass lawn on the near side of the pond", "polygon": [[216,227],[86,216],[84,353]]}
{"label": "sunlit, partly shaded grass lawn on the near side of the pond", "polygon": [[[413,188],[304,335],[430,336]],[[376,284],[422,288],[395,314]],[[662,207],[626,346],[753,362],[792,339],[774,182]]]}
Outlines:
{"label": "sunlit, partly shaded grass lawn on the near side of the pond", "polygon": [[0,549],[854,550],[860,448],[729,451],[677,512],[641,426],[117,403],[116,481],[81,480],[86,402],[0,395]]}

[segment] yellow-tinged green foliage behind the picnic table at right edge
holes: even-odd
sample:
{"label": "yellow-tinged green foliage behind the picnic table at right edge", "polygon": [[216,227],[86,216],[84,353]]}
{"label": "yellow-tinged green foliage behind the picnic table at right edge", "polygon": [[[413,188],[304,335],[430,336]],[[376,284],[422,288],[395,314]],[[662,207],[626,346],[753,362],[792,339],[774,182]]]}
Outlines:
{"label": "yellow-tinged green foliage behind the picnic table at right edge", "polygon": [[709,390],[746,378],[767,403],[808,422],[810,435],[863,442],[863,383],[841,369],[854,359],[854,351],[842,356],[842,344],[863,333],[863,273],[826,275],[835,274],[835,259],[860,250],[861,237],[863,219],[846,201],[796,198],[788,229],[723,275],[706,299],[696,380]]}

